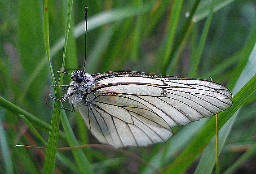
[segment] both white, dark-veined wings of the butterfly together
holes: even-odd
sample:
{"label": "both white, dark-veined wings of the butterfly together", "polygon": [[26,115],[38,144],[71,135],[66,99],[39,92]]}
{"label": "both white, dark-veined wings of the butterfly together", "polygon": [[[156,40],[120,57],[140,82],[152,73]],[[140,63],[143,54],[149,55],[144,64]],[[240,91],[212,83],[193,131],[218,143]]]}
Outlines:
{"label": "both white, dark-veined wings of the butterfly together", "polygon": [[210,117],[232,104],[230,91],[214,82],[147,74],[94,74],[97,85],[78,110],[92,134],[115,147],[167,141],[172,127]]}

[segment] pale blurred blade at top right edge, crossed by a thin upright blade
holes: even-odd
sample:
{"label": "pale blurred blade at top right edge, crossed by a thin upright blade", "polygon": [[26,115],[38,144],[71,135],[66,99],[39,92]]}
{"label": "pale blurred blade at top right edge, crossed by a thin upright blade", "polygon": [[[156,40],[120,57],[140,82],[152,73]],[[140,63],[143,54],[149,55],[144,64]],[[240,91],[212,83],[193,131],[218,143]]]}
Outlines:
{"label": "pale blurred blade at top right edge, crossed by a thin upright blade", "polygon": [[[225,7],[226,5],[230,4],[233,1],[234,0],[216,0],[213,12],[220,10],[221,8]],[[193,22],[201,21],[202,19],[207,17],[211,4],[212,4],[212,0],[201,1],[198,9],[196,10],[196,13],[194,14]]]}

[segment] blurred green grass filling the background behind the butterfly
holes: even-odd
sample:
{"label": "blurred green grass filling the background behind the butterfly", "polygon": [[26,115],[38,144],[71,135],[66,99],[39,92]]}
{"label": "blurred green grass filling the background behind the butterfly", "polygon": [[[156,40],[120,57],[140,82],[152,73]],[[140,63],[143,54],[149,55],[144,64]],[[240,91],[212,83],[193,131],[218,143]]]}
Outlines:
{"label": "blurred green grass filling the background behind the butterfly", "polygon": [[[135,70],[188,76],[191,75],[193,63],[196,63],[193,77],[208,80],[211,76],[218,83],[228,84],[232,90],[248,62],[252,73],[255,74],[256,71],[256,66],[253,66],[253,60],[256,60],[253,51],[256,42],[256,8],[252,0],[216,0],[212,20],[205,29],[205,42],[200,45],[200,53],[196,48],[203,35],[203,26],[206,24],[211,4],[212,0],[89,0],[87,4],[82,0],[74,1],[69,18],[70,32],[68,38],[66,37],[66,68],[82,68],[84,6],[88,6],[86,71],[89,73]],[[45,154],[45,151],[39,153],[34,149],[14,146],[37,144],[45,147],[45,141],[49,136],[53,111],[45,106],[44,99],[49,93],[54,92],[51,87],[50,71],[46,65],[43,2],[2,0],[0,9],[0,106],[3,107],[0,109],[0,162],[4,164],[0,168],[0,173],[42,173],[44,156],[39,154]],[[62,67],[67,9],[68,1],[49,1],[49,59],[53,73]],[[187,13],[190,14],[187,18],[186,12],[190,12]],[[195,54],[201,54],[198,62],[192,59]],[[58,80],[59,75],[55,76]],[[243,75],[243,78],[248,78],[247,76]],[[70,77],[65,75],[64,84],[69,82]],[[239,99],[245,100],[243,108],[237,113],[234,128],[230,129],[223,147],[234,143],[255,144],[255,92],[251,98],[252,92],[246,93],[253,85],[255,82],[243,91],[243,98]],[[242,105],[236,105],[237,101],[234,101],[233,106],[236,109]],[[53,101],[49,100],[49,104],[53,105]],[[70,108],[69,104],[64,105]],[[226,112],[231,113],[231,110],[228,109]],[[18,114],[24,117],[18,119]],[[219,115],[221,125],[232,116],[223,114],[225,112]],[[97,140],[88,133],[77,112],[74,115],[62,111],[59,115],[62,124],[59,128],[60,139],[56,142],[58,147],[97,143]],[[181,162],[177,166],[182,169],[182,173],[194,172],[201,157],[194,152],[207,144],[214,135],[212,119],[206,118],[174,128],[175,135],[165,144],[126,150],[139,155],[159,169],[193,154],[190,163]],[[208,122],[209,120],[211,121]],[[199,136],[203,137],[197,140]],[[207,140],[202,141],[203,138]],[[194,146],[197,148],[193,148]],[[227,171],[242,170],[250,173],[255,170],[255,166],[252,165],[256,160],[252,155],[255,153],[253,149],[244,155],[241,152],[220,153],[221,173],[236,160],[238,161],[235,166],[231,166]],[[39,160],[35,160],[35,157],[39,157]],[[204,169],[208,164],[202,161],[203,158],[200,168]],[[88,163],[91,165],[86,166]],[[247,165],[251,167],[245,168]],[[56,172],[84,173],[87,167],[95,173],[154,172],[139,161],[108,150],[90,148],[57,152]]]}

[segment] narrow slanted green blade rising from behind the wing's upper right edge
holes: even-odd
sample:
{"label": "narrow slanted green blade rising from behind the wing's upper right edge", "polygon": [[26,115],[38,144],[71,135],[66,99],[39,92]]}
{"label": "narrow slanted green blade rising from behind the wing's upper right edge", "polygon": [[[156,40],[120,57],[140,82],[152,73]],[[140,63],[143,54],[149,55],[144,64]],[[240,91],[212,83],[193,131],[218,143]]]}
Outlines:
{"label": "narrow slanted green blade rising from behind the wing's upper right edge", "polygon": [[202,52],[203,52],[203,46],[204,46],[204,43],[205,43],[205,40],[206,40],[206,36],[207,36],[208,30],[209,30],[211,21],[212,21],[214,3],[215,3],[215,0],[212,0],[212,6],[211,6],[211,9],[209,11],[207,20],[206,20],[206,22],[203,26],[203,32],[202,32],[201,37],[199,39],[198,46],[196,48],[195,54],[193,55],[193,57],[191,57],[191,61],[190,61],[191,62],[191,67],[190,67],[190,71],[189,71],[189,74],[188,74],[188,76],[191,77],[191,78],[196,77],[198,65],[199,65],[200,58],[201,58],[201,55],[202,55]]}

